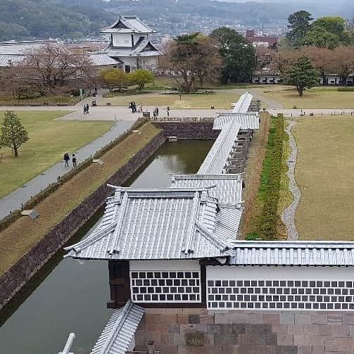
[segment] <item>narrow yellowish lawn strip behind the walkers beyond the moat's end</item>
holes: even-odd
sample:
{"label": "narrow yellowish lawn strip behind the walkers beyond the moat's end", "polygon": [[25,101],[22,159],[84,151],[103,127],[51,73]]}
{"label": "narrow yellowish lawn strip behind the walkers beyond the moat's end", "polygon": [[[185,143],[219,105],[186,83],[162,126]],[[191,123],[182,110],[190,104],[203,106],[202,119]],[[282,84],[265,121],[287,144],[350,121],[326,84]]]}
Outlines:
{"label": "narrow yellowish lawn strip behind the walkers beyond the moat's end", "polygon": [[215,94],[141,94],[134,96],[115,96],[99,101],[100,106],[110,102],[113,106],[129,106],[129,102],[143,103],[144,106],[170,106],[170,108],[230,108],[231,103],[238,101],[239,95],[225,94],[219,91]]}

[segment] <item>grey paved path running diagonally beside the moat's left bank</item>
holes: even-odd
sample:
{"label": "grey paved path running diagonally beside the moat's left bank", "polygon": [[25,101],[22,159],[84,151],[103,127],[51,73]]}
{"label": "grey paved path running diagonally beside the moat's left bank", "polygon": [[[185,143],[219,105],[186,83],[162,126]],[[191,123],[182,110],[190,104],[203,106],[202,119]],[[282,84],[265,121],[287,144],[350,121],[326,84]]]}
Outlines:
{"label": "grey paved path running diagonally beside the moat's left bank", "polygon": [[[46,107],[46,109],[48,109]],[[28,110],[28,107],[27,107]],[[89,158],[96,153],[100,148],[106,146],[110,141],[119,137],[120,134],[132,127],[134,120],[118,120],[118,122],[111,127],[108,132],[101,135],[91,143],[80,148],[78,151],[69,151],[69,153],[75,153],[77,155],[77,162]],[[70,161],[71,163],[71,161]],[[48,170],[45,170],[42,175],[34,177],[30,182],[27,182],[23,187],[15,189],[10,194],[0,199],[0,219],[10,213],[10,210],[20,209],[21,203],[25,203],[31,196],[39,193],[42,189],[46,188],[49,183],[56,182],[58,176],[68,172],[70,167],[64,167],[64,162],[61,161],[56,165],[53,165]]]}

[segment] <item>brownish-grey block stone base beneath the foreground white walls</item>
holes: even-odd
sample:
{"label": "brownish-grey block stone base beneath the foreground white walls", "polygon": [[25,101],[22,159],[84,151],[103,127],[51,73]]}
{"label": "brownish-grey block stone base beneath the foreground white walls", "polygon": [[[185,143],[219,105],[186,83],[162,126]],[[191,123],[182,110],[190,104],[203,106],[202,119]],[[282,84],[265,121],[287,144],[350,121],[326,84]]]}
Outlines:
{"label": "brownish-grey block stone base beneath the foreground white walls", "polygon": [[135,334],[163,354],[348,354],[354,350],[353,312],[146,309]]}

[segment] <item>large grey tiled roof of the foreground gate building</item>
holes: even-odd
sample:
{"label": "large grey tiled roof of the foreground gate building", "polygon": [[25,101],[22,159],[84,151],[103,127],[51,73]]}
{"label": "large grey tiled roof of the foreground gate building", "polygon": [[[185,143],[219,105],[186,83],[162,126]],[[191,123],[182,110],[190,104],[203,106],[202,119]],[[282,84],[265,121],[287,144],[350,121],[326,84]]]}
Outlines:
{"label": "large grey tiled roof of the foreground gate building", "polygon": [[[224,216],[224,215],[222,215]],[[219,217],[208,188],[131,189],[116,187],[106,212],[87,239],[67,256],[82,259],[162,260],[222,257],[234,232]],[[217,236],[215,236],[217,235]]]}

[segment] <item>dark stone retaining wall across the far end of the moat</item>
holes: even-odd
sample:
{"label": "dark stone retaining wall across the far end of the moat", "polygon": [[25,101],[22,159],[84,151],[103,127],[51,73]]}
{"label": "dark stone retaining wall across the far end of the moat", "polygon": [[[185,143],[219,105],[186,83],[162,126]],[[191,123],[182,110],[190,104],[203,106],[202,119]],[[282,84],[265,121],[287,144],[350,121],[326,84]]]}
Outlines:
{"label": "dark stone retaining wall across the far end of the moat", "polygon": [[153,122],[163,129],[166,137],[178,139],[216,139],[220,130],[213,130],[213,122]]}

